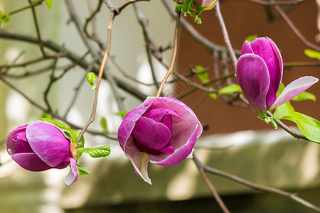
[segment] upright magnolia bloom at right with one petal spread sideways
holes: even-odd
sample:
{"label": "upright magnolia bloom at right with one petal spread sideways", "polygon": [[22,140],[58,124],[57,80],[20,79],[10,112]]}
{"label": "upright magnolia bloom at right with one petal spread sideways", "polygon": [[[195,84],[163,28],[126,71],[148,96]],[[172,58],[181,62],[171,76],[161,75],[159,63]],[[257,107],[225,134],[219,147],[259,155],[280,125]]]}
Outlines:
{"label": "upright magnolia bloom at right with one petal spread sideways", "polygon": [[253,111],[264,119],[272,110],[318,82],[315,77],[300,77],[285,87],[277,97],[283,73],[283,61],[277,45],[267,37],[245,41],[241,48],[235,74]]}

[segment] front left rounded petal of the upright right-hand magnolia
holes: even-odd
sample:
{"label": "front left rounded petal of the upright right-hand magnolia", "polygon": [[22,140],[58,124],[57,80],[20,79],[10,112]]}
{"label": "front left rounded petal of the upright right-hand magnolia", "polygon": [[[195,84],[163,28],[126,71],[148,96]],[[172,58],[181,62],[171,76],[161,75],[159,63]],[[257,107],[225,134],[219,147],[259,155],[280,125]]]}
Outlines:
{"label": "front left rounded petal of the upright right-hand magnolia", "polygon": [[267,111],[265,98],[270,84],[270,77],[265,61],[258,55],[241,55],[235,74],[251,109],[257,112]]}

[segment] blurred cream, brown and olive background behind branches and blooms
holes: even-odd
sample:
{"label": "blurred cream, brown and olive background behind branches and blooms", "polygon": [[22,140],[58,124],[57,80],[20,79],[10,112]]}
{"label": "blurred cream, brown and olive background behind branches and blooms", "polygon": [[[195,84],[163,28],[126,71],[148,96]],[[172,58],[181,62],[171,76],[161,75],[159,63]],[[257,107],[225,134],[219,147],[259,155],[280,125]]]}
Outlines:
{"label": "blurred cream, brown and olive background behind branches and blooms", "polygon": [[[89,2],[89,3],[88,3]],[[91,3],[90,3],[91,2]],[[121,5],[125,1],[112,1]],[[79,4],[81,3],[81,4]],[[75,11],[82,23],[90,15],[89,7],[95,7],[98,1],[73,1]],[[149,27],[158,45],[166,47],[174,37],[174,19],[166,11],[161,1],[151,0],[141,3],[144,14],[149,19]],[[8,12],[28,5],[27,1],[1,0],[1,11]],[[225,19],[231,44],[240,50],[249,35],[272,38],[282,51],[284,62],[317,62],[304,55],[306,45],[295,35],[287,23],[272,6],[262,6],[251,1],[220,1],[221,12]],[[174,2],[171,2],[174,9]],[[283,6],[284,11],[302,32],[304,37],[319,45],[319,6],[316,1],[303,1],[300,4]],[[75,26],[69,21],[65,1],[54,1],[52,11],[46,4],[36,7],[38,23],[43,40],[53,40],[64,48],[85,54],[86,48]],[[201,13],[202,24],[193,19],[186,20],[205,38],[218,45],[224,45],[215,10]],[[97,15],[97,33],[106,40],[107,23],[110,12],[106,6]],[[318,20],[318,22],[317,22]],[[11,16],[7,23],[1,23],[2,31],[36,35],[30,9]],[[318,40],[317,40],[318,39]],[[39,56],[37,45],[4,39],[0,36],[0,66],[21,57],[17,62],[31,60]],[[152,76],[145,53],[142,28],[136,21],[132,6],[127,7],[115,18],[112,29],[111,54],[130,75],[142,82],[151,83]],[[171,51],[164,52],[164,61],[169,63]],[[319,62],[319,60],[318,60]],[[50,65],[43,62],[28,67],[11,69],[12,75],[39,70]],[[68,60],[60,60],[58,66],[68,65]],[[197,43],[191,35],[181,28],[178,44],[178,60],[175,70],[181,74],[186,66],[201,65],[208,68],[209,77],[214,77],[213,54]],[[223,66],[221,60],[219,67]],[[158,79],[166,69],[154,60]],[[124,77],[117,68],[107,61],[107,68],[113,75],[127,84],[132,84],[144,94],[152,95],[155,87],[134,83]],[[234,72],[229,66],[230,73]],[[289,84],[298,77],[312,75],[320,77],[319,66],[289,67],[284,69],[284,84]],[[3,70],[1,70],[3,72]],[[222,75],[222,73],[220,73]],[[55,83],[49,99],[60,114],[68,108],[75,87],[85,72],[79,67],[73,68],[61,80]],[[43,92],[50,77],[50,71],[39,75],[16,78],[8,77],[18,89],[31,99],[44,106]],[[236,83],[235,77],[232,81]],[[320,95],[320,84],[315,84],[308,91]],[[181,84],[167,87],[170,95],[177,97]],[[63,180],[68,169],[48,170],[32,173],[20,168],[6,153],[6,136],[11,129],[28,124],[43,115],[43,111],[33,107],[25,98],[3,82],[0,82],[0,212],[220,212],[210,190],[199,175],[192,160],[171,167],[149,164],[149,177],[153,185],[148,185],[137,178],[129,159],[124,157],[117,141],[102,136],[85,134],[86,146],[110,144],[111,154],[107,158],[92,159],[83,155],[80,163],[91,174],[80,176],[73,185],[67,187]],[[142,101],[127,92],[124,95],[126,110],[137,107]],[[220,97],[203,97],[203,92],[194,92],[182,99],[193,107],[198,119],[206,124],[207,130],[196,143],[195,154],[206,165],[233,173],[241,178],[261,185],[277,187],[289,192],[297,192],[299,197],[320,206],[320,148],[316,143],[297,140],[281,129],[274,130],[271,125],[257,119],[250,108],[232,107]],[[70,109],[67,119],[78,126],[83,126],[92,110],[93,93],[90,84],[80,88],[78,99]],[[320,119],[319,101],[294,102],[296,111]],[[122,121],[110,92],[110,84],[103,81],[97,107],[97,117],[90,129],[102,131],[100,119],[107,119],[108,129],[117,133]],[[286,124],[294,126],[293,123]],[[289,197],[267,192],[257,192],[226,178],[208,174],[216,190],[222,196],[231,212],[314,212]]]}

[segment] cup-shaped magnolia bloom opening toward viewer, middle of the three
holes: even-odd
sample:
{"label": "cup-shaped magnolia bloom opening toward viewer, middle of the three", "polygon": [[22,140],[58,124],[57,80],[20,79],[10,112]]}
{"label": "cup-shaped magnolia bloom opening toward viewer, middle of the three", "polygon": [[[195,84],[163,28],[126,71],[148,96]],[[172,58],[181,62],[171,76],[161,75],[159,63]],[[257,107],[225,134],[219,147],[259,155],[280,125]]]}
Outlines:
{"label": "cup-shaped magnolia bloom opening toward viewer, middle of the three", "polygon": [[186,104],[172,97],[148,97],[124,117],[118,140],[137,175],[151,184],[148,161],[176,165],[192,158],[201,133],[200,121]]}

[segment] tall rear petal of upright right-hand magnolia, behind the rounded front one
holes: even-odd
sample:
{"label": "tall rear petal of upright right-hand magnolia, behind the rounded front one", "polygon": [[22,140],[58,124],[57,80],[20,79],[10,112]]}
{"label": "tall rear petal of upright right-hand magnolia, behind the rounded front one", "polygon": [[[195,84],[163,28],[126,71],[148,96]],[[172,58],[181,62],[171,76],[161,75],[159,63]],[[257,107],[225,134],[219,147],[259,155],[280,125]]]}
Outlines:
{"label": "tall rear petal of upright right-hand magnolia, behind the rounded front one", "polygon": [[250,46],[255,55],[259,55],[266,63],[270,76],[270,85],[266,97],[266,107],[270,109],[279,90],[282,73],[283,62],[277,45],[270,38],[256,38]]}

